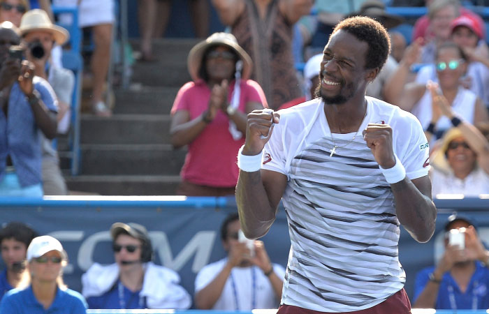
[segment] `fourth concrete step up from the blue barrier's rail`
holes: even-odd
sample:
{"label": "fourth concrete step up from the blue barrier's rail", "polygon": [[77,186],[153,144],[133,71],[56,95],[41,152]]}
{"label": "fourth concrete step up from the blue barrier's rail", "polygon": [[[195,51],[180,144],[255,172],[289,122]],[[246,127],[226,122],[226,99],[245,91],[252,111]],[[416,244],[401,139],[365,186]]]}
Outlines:
{"label": "fourth concrete step up from the blue barrier's rail", "polygon": [[180,87],[135,86],[115,91],[115,114],[169,114]]}

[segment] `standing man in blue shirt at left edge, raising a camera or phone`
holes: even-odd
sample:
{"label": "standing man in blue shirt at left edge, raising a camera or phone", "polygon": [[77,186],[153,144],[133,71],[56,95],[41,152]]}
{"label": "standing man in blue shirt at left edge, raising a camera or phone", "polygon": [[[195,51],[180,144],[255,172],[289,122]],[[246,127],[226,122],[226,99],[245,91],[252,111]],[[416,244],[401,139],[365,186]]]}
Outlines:
{"label": "standing man in blue shirt at left edge, raising a camera or phone", "polygon": [[[0,195],[42,197],[41,140],[56,136],[57,98],[34,64],[19,58],[20,31],[0,24]],[[10,51],[10,52],[9,52]]]}

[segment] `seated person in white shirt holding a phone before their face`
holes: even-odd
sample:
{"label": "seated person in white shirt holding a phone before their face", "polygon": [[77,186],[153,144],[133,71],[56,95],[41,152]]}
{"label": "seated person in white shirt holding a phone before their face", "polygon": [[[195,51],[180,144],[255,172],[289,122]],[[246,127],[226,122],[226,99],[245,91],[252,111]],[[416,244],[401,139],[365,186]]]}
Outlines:
{"label": "seated person in white shirt holding a phone before their face", "polygon": [[284,267],[270,262],[262,241],[240,237],[240,232],[238,214],[229,215],[221,225],[221,241],[228,257],[198,272],[195,281],[197,308],[249,311],[279,306]]}

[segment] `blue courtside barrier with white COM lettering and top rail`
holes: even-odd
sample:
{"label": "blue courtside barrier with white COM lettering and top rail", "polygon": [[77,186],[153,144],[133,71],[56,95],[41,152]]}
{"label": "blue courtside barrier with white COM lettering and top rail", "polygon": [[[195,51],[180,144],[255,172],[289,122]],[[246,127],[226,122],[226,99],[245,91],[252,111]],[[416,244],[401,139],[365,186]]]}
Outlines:
{"label": "blue courtside barrier with white COM lettering and top rail", "polygon": [[[464,211],[466,216],[470,216],[478,225],[481,238],[489,243],[489,195],[467,199],[461,199],[462,195],[449,197],[435,200],[439,209],[436,232],[428,243],[419,244],[401,228],[399,259],[407,274],[405,289],[409,297],[414,293],[416,273],[432,265],[443,252],[444,225],[453,211]],[[50,234],[61,241],[69,257],[69,264],[64,269],[64,280],[71,289],[77,291],[82,288],[82,274],[94,262],[114,262],[109,229],[112,223],[122,221],[147,227],[152,239],[154,262],[177,271],[182,286],[193,294],[198,271],[206,264],[226,256],[219,228],[226,216],[235,211],[234,197],[0,198],[1,223],[22,221],[30,224],[38,233]],[[282,206],[270,232],[262,240],[272,262],[285,266],[290,241]],[[3,268],[1,264],[0,261],[0,269]]]}

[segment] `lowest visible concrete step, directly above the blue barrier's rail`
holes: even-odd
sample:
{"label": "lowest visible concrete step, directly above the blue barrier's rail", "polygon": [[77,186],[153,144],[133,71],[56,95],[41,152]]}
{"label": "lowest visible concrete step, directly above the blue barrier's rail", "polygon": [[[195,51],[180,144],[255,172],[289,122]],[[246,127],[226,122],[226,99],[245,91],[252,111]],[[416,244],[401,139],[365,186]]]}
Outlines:
{"label": "lowest visible concrete step, directly above the blue barrier's rail", "polygon": [[81,175],[66,177],[69,190],[100,195],[175,195],[179,176]]}

